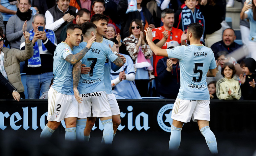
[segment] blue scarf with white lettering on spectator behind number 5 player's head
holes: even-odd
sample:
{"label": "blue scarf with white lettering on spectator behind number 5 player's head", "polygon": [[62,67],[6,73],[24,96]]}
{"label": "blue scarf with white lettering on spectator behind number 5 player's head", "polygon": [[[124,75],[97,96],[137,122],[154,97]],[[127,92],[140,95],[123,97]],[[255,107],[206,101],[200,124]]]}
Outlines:
{"label": "blue scarf with white lettering on spectator behind number 5 player's head", "polygon": [[[195,7],[194,13],[192,12],[191,9],[189,9],[186,5],[183,7],[182,12],[181,12],[181,20],[182,20],[182,28],[183,31],[188,29],[188,25],[191,23],[199,23],[204,27],[204,32],[205,32],[205,19],[204,15],[202,12]],[[201,38],[204,38],[204,35]]]}

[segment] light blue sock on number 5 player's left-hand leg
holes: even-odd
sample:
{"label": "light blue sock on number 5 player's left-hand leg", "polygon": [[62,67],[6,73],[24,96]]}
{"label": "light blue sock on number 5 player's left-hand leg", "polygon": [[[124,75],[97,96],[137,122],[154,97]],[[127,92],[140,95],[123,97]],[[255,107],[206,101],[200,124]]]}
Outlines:
{"label": "light blue sock on number 5 player's left-hand leg", "polygon": [[169,141],[169,150],[178,150],[181,144],[181,130],[171,124],[171,136]]}

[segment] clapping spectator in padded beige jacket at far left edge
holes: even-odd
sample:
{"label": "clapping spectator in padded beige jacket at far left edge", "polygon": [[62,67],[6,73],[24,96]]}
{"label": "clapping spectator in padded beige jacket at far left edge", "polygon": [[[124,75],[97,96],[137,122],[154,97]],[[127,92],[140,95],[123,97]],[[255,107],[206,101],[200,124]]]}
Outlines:
{"label": "clapping spectator in padded beige jacket at far left edge", "polygon": [[[20,51],[14,48],[8,49],[3,47],[3,34],[0,34],[0,70],[5,79],[17,89],[21,98],[25,98],[25,94],[20,76],[20,62],[28,60],[33,56],[33,45],[29,40],[29,33],[23,32],[23,35],[26,39],[25,50]],[[0,92],[3,92],[1,93],[2,95],[6,94],[4,90]],[[8,97],[8,95],[6,97]]]}

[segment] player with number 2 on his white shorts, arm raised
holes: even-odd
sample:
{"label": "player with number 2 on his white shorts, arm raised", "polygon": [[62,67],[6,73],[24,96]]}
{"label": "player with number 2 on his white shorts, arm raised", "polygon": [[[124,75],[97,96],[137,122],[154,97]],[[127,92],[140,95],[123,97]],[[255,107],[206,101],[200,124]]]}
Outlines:
{"label": "player with number 2 on his white shorts, arm raised", "polygon": [[96,36],[93,36],[87,46],[73,55],[73,46],[78,46],[82,30],[76,24],[67,27],[65,42],[57,45],[53,56],[53,85],[48,92],[48,123],[41,133],[41,137],[50,137],[64,119],[66,124],[66,140],[76,139],[76,118],[78,105],[73,92],[72,65],[80,61],[91,47]]}

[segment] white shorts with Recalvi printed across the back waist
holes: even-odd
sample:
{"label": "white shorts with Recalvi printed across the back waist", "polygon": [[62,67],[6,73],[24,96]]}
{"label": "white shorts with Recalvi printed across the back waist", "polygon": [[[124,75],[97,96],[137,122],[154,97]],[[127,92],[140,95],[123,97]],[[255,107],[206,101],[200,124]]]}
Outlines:
{"label": "white shorts with Recalvi printed across the back waist", "polygon": [[105,91],[80,94],[82,103],[78,103],[78,118],[110,117],[112,116],[109,101]]}

